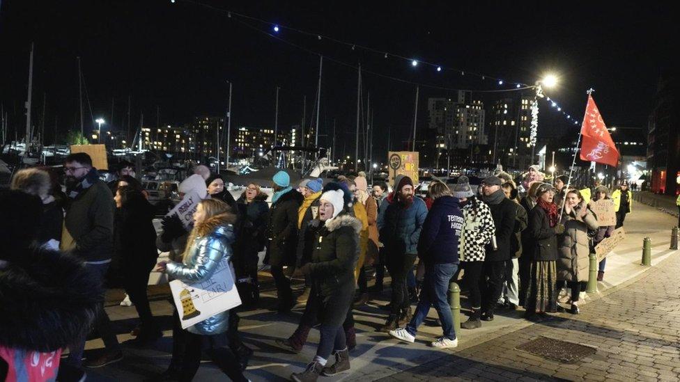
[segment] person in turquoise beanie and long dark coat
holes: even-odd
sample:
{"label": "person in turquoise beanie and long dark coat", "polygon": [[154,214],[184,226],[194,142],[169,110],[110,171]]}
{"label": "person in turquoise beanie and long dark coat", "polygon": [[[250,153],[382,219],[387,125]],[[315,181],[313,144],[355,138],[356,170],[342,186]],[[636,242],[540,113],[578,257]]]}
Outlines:
{"label": "person in turquoise beanie and long dark coat", "polygon": [[295,265],[297,248],[297,210],[302,194],[291,187],[291,177],[285,171],[274,175],[274,196],[269,212],[268,246],[265,262],[270,265],[277,287],[279,312],[287,312],[295,305],[291,280],[284,274],[284,266]]}

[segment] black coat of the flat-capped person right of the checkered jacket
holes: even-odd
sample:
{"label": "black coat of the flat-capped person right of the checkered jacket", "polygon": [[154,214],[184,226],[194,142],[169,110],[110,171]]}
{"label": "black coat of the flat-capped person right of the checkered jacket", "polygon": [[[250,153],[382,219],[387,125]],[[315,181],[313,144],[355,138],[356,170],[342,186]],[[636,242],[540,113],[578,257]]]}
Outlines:
{"label": "black coat of the flat-capped person right of the checkered jacket", "polygon": [[493,224],[496,227],[496,245],[498,249],[493,250],[493,246],[488,244],[486,246],[485,261],[500,262],[510,260],[514,255],[511,237],[515,234],[515,218],[517,216],[515,202],[508,198],[503,198],[502,202],[497,205],[487,204],[491,209]]}

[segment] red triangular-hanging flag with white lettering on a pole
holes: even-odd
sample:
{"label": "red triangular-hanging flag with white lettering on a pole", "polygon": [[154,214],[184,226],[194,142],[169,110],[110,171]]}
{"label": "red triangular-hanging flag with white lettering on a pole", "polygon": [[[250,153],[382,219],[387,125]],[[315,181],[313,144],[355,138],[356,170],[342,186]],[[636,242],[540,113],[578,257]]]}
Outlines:
{"label": "red triangular-hanging flag with white lettering on a pole", "polygon": [[608,164],[616,167],[619,164],[619,150],[616,149],[605,121],[597,109],[592,95],[588,95],[583,125],[581,126],[581,154],[584,161]]}

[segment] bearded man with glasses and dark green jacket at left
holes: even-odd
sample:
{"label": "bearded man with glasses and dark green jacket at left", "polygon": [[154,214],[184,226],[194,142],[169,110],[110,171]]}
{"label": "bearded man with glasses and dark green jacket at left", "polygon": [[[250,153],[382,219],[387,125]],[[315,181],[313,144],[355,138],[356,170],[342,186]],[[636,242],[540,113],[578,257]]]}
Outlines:
{"label": "bearded man with glasses and dark green jacket at left", "polygon": [[[68,200],[60,248],[83,260],[103,290],[114,251],[114,196],[107,184],[99,179],[88,154],[70,154],[65,159],[64,171]],[[106,349],[98,358],[85,360],[85,367],[102,367],[123,359],[121,346],[104,310],[104,296],[101,296],[94,328],[102,336]],[[82,365],[85,342],[85,337],[74,338],[68,363],[75,367]]]}

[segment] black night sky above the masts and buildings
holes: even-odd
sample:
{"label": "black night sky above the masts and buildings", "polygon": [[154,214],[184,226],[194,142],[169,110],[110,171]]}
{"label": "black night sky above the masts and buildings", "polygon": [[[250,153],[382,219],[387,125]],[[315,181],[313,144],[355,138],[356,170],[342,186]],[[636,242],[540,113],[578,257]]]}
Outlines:
{"label": "black night sky above the masts and buildings", "polygon": [[[368,1],[199,1],[506,81],[533,83],[544,72],[554,71],[561,86],[548,94],[580,119],[585,90],[595,88],[595,100],[608,125],[646,126],[660,72],[671,66],[672,49],[679,46],[677,13],[671,12],[672,6],[656,2],[620,6],[536,1],[518,6],[514,1],[474,5],[396,1],[385,6]],[[339,61],[353,65],[361,61],[367,70],[408,81],[446,88],[499,88],[488,79],[440,74],[422,65],[414,69],[396,58],[353,51],[291,31],[279,36]],[[2,0],[0,97],[13,126],[24,124],[31,42],[36,43],[33,116],[40,120],[46,93],[47,125],[54,126],[57,117],[61,131],[77,126],[76,56],[82,58],[95,118],[111,118],[114,98],[114,129],[123,123],[128,95],[132,95],[133,128],[141,112],[145,125],[155,125],[157,106],[161,124],[182,124],[203,114],[224,115],[227,79],[234,83],[233,126],[272,127],[275,86],[281,87],[279,125],[300,121],[304,95],[307,118],[311,117],[318,56],[234,22],[226,13],[182,0]],[[337,120],[338,150],[348,141],[346,150],[353,152],[356,71],[331,61],[325,61],[323,69],[321,132],[332,131],[332,120]],[[387,129],[392,129],[393,141],[405,140],[412,124],[415,86],[364,74],[364,90],[371,93],[376,150],[386,148]],[[426,124],[426,98],[449,94],[421,88],[419,127]],[[88,120],[87,112],[86,126]],[[541,104],[539,120],[541,135],[559,134],[569,127],[546,103]],[[341,132],[345,134],[340,136]]]}

